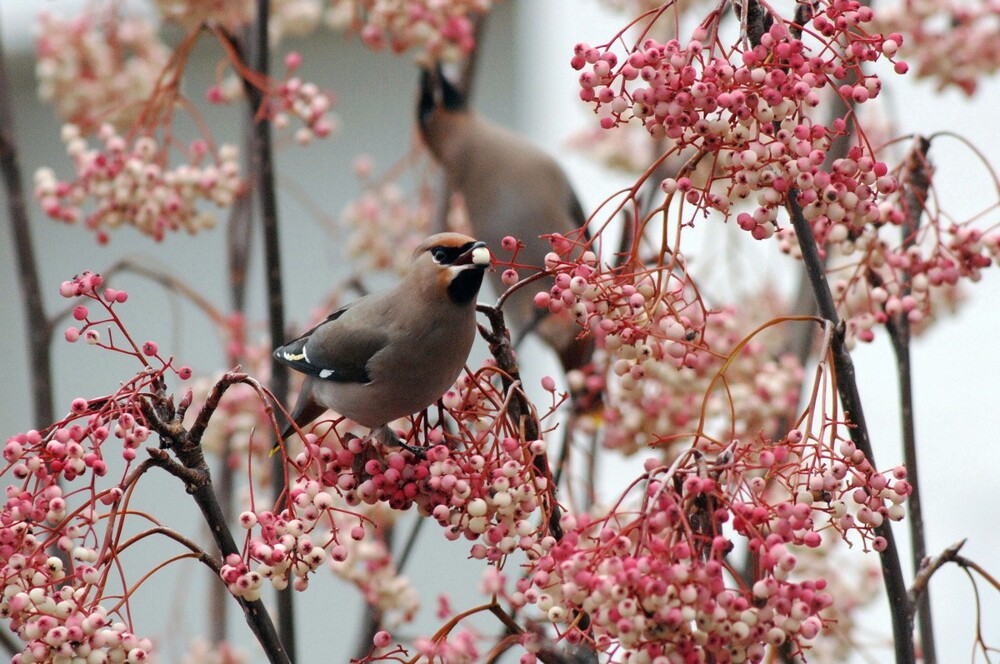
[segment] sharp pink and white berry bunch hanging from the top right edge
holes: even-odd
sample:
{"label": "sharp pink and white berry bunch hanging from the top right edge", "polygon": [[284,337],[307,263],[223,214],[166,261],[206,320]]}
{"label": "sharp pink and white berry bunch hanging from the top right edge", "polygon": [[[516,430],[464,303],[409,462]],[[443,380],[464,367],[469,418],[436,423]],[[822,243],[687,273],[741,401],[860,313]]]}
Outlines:
{"label": "sharp pink and white berry bunch hanging from the top right edge", "polygon": [[[683,174],[663,181],[664,207],[676,197],[728,217],[736,204],[756,200],[736,219],[755,239],[774,234],[789,196],[821,229],[876,222],[879,197],[895,189],[886,165],[863,143],[849,159],[823,165],[832,142],[848,133],[849,104],[881,89],[862,64],[892,57],[902,37],[866,32],[872,11],[854,0],[820,7],[805,27],[772,17],[752,47],[724,48],[717,15],[686,42],[644,40],[621,64],[611,48],[621,35],[604,46],[579,44],[572,64],[584,70],[581,98],[603,111],[602,127],[636,120],[654,138],[670,139],[671,153],[693,149],[710,159],[715,175],[703,186]],[[845,107],[845,117],[829,125],[811,114],[824,92]]]}

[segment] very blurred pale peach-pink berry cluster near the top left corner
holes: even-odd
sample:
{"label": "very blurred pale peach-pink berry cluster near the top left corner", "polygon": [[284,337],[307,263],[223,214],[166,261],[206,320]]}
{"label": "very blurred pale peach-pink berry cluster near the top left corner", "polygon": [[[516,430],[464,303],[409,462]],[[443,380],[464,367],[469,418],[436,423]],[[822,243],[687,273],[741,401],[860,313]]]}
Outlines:
{"label": "very blurred pale peach-pink berry cluster near the top left corner", "polygon": [[38,95],[84,131],[110,122],[122,129],[140,114],[170,51],[141,17],[83,12],[38,17]]}

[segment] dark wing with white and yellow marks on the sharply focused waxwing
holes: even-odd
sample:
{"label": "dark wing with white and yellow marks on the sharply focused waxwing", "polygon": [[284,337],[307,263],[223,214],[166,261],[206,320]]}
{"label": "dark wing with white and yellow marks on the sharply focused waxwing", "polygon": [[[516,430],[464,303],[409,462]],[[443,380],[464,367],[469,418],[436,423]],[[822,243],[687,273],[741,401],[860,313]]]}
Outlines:
{"label": "dark wing with white and yellow marks on the sharply focused waxwing", "polygon": [[279,362],[323,380],[368,383],[368,361],[389,343],[383,330],[350,325],[343,315],[348,307],[274,351]]}

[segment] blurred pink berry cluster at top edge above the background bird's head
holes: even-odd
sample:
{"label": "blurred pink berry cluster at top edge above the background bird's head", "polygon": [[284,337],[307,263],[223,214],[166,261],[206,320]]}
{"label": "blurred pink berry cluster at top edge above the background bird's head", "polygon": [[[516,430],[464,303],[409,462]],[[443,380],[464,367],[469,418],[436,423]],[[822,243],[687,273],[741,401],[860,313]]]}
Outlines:
{"label": "blurred pink berry cluster at top edge above the background bird's head", "polygon": [[472,52],[470,17],[485,14],[492,0],[334,0],[335,27],[356,29],[372,49],[413,50],[424,64],[458,61]]}

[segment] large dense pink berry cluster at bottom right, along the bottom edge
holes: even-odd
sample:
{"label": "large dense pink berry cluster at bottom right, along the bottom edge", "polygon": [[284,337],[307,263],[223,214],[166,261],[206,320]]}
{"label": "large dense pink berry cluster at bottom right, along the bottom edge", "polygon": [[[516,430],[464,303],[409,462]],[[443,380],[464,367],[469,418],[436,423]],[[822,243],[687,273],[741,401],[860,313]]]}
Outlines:
{"label": "large dense pink berry cluster at bottom right, along the bottom edge", "polygon": [[[800,652],[834,599],[825,579],[794,579],[796,550],[819,547],[829,528],[884,547],[872,531],[902,518],[910,492],[902,469],[879,473],[850,441],[829,449],[799,430],[774,444],[735,441],[708,464],[689,452],[646,467],[632,485],[643,488],[638,506],[623,495],[610,512],[564,516],[562,539],[509,597],[537,606],[562,638],[622,661],[761,661],[786,642]],[[727,558],[737,539],[754,561],[747,580]]]}

